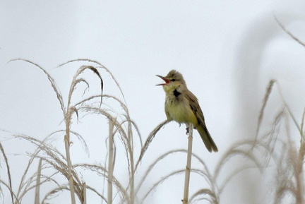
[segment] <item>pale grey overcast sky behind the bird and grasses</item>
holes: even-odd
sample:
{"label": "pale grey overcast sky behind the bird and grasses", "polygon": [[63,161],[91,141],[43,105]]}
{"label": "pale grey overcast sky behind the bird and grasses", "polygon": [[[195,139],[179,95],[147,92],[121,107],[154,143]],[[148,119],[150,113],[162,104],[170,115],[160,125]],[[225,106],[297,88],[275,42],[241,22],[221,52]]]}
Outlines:
{"label": "pale grey overcast sky behind the bird and grasses", "polygon": [[[304,1],[284,0],[1,1],[0,128],[40,139],[63,128],[59,103],[42,71],[24,61],[8,63],[11,59],[28,59],[45,68],[64,98],[73,74],[85,63],[56,66],[72,59],[99,61],[121,85],[143,140],[165,120],[165,93],[155,86],[160,83],[155,75],[165,76],[177,69],[198,97],[220,150],[210,154],[195,133],[193,151],[202,156],[213,172],[234,142],[255,136],[259,108],[270,79],[279,81],[292,112],[301,121],[305,104],[305,48],[277,25],[273,15],[305,42],[304,9]],[[121,98],[109,74],[102,69],[100,72],[104,94]],[[98,94],[97,77],[88,78],[90,92]],[[282,107],[278,101],[275,97],[270,105],[275,112]],[[267,127],[272,119],[266,119]],[[107,120],[92,116],[90,122],[75,122],[73,128],[85,135],[90,157],[75,145],[71,151],[80,157],[72,155],[72,161],[102,162],[104,150],[97,143],[104,143],[100,135],[108,133]],[[292,133],[295,131],[292,128]],[[183,126],[168,124],[152,142],[143,169],[157,154],[186,148],[186,138]],[[24,143],[6,141],[3,145],[10,154],[26,150]],[[170,172],[169,167],[183,169],[185,161],[181,157],[185,155],[168,160],[153,175],[164,176]],[[20,158],[11,159],[12,171],[19,176],[20,163]],[[184,175],[177,178],[157,188],[146,203],[180,202]],[[14,179],[18,181],[18,176]],[[146,185],[152,185],[156,181],[153,179],[152,176]],[[246,184],[240,184],[238,179],[232,181],[221,197],[222,203],[268,203],[268,196],[258,198],[253,193],[260,189],[254,181],[257,180],[251,182],[250,178]],[[191,186],[196,185],[193,183]],[[250,190],[246,186],[251,186]],[[96,203],[94,199],[90,203]]]}

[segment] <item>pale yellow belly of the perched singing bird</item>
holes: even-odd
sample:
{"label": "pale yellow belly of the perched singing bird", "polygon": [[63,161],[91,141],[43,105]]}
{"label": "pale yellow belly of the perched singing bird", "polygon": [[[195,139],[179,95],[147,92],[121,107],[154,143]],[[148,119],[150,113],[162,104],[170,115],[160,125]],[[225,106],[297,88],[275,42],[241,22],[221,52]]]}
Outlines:
{"label": "pale yellow belly of the perched singing bird", "polygon": [[187,102],[179,102],[177,104],[166,103],[165,111],[171,119],[177,121],[179,124],[191,123],[194,126],[197,125],[197,118]]}

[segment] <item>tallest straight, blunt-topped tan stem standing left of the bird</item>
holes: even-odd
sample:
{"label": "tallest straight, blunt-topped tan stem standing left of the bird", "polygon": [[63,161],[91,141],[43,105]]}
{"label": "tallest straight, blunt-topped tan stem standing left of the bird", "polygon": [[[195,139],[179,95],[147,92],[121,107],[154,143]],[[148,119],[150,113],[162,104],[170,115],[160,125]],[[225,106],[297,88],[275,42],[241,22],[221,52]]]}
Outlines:
{"label": "tallest straight, blunt-topped tan stem standing left of the bird", "polygon": [[112,204],[112,176],[114,170],[114,123],[115,121],[109,120],[108,204]]}

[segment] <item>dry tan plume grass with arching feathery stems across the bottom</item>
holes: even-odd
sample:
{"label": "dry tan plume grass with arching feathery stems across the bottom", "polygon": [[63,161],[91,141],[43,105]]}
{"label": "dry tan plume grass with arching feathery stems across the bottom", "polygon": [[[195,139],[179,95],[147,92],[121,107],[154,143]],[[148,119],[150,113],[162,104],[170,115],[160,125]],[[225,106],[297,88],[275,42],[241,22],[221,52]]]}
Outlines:
{"label": "dry tan plume grass with arching feathery stems across the bottom", "polygon": [[[304,203],[305,109],[301,114],[301,121],[297,121],[297,117],[294,116],[292,109],[286,102],[277,80],[270,80],[267,85],[258,116],[255,137],[248,140],[239,140],[232,144],[227,151],[224,150],[224,154],[217,161],[214,171],[210,170],[210,166],[205,163],[202,157],[192,152],[193,129],[191,127],[187,150],[169,150],[157,155],[157,158],[152,160],[148,167],[142,167],[140,164],[146,159],[145,155],[148,154],[148,148],[150,148],[156,136],[162,135],[161,130],[166,128],[168,121],[162,121],[155,128],[152,128],[152,131],[144,140],[136,121],[131,118],[119,83],[109,69],[90,59],[76,59],[61,64],[59,66],[61,68],[68,64],[86,64],[76,69],[67,90],[68,96],[64,99],[56,85],[56,80],[44,68],[26,59],[14,59],[11,62],[13,61],[29,63],[42,71],[59,102],[64,128],[49,133],[42,140],[25,134],[1,130],[1,133],[10,135],[10,140],[22,140],[24,145],[32,148],[31,152],[24,152],[28,161],[25,167],[18,169],[20,172],[22,171],[22,176],[18,184],[14,184],[9,162],[11,155],[6,154],[6,146],[4,145],[6,141],[0,143],[1,155],[6,167],[6,179],[1,176],[0,190],[3,197],[6,197],[4,192],[8,191],[8,198],[12,204],[25,203],[25,196],[29,194],[32,195],[32,202],[35,204],[56,203],[56,197],[63,196],[65,192],[69,193],[73,204],[88,203],[89,195],[97,196],[101,203],[145,203],[148,202],[148,196],[152,195],[152,192],[164,184],[165,181],[170,181],[170,179],[183,173],[185,173],[183,203],[219,204],[224,191],[227,190],[235,176],[249,169],[256,169],[264,176],[266,169],[272,169],[270,167],[273,167],[273,176],[276,178],[275,190],[272,194],[274,198],[271,203],[284,203],[287,196],[291,196],[296,204]],[[91,85],[89,80],[82,75],[85,71],[88,71],[95,78],[97,77],[100,92],[98,94],[89,92],[85,97],[83,95],[81,98],[77,98],[75,90],[78,85],[83,84],[85,86],[83,92],[88,92]],[[107,86],[107,83],[104,84],[103,71],[109,73],[121,95],[104,94],[104,85]],[[269,126],[269,130],[263,133],[262,127],[265,126],[266,109],[269,108],[270,96],[275,91],[280,93],[282,108],[273,116],[273,123]],[[106,104],[105,100],[109,104]],[[115,107],[120,109],[118,110]],[[76,126],[73,121],[84,122],[92,115],[96,115],[101,121],[106,119],[109,122],[108,129],[102,130],[105,134],[100,136],[102,140],[107,141],[106,150],[101,150],[101,152],[105,152],[105,155],[102,155],[97,162],[73,162],[76,155],[73,155],[73,151],[71,151],[71,145],[73,144],[71,138],[80,142],[83,147],[83,151],[79,150],[81,153],[89,155],[90,151],[87,144],[88,138],[73,130],[73,127]],[[295,144],[292,139],[294,136],[289,134],[289,121],[293,122],[299,132],[299,144]],[[286,134],[282,133],[283,129],[285,129]],[[285,135],[286,138],[283,137]],[[57,148],[56,141],[58,140],[64,142],[64,148]],[[176,153],[186,155],[186,168],[184,169],[184,164],[181,164],[181,169],[172,169],[171,172],[156,178],[148,189],[143,188],[147,184],[148,176],[152,174],[152,170],[157,168],[157,164]],[[119,162],[118,157],[120,158]],[[124,158],[124,160],[121,158]],[[226,171],[226,167],[231,164],[233,159],[244,161],[245,158],[246,162],[242,165],[232,169],[231,172]],[[199,167],[191,167],[191,159]],[[124,164],[126,164],[126,168]],[[118,171],[121,169],[123,171]],[[140,172],[139,169],[144,169],[143,174],[138,173]],[[117,172],[124,172],[124,176]],[[96,180],[102,184],[96,187],[93,182],[90,183],[86,180],[85,174],[97,178]],[[190,183],[191,177],[194,175],[199,176],[204,181],[198,189],[193,189],[192,183]],[[182,184],[183,181],[181,181],[181,186]],[[189,191],[190,188],[192,191]]]}

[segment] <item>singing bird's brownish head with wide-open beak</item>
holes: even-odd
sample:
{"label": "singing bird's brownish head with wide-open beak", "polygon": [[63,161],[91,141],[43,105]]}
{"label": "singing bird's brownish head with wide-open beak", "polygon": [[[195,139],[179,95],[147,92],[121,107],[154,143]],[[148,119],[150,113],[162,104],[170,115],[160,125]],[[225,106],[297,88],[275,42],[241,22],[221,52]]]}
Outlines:
{"label": "singing bird's brownish head with wide-open beak", "polygon": [[175,90],[177,88],[186,87],[186,83],[182,74],[176,70],[169,71],[167,76],[157,75],[157,77],[160,77],[162,78],[162,80],[165,81],[165,83],[157,84],[157,85],[162,85],[165,92],[170,90]]}

